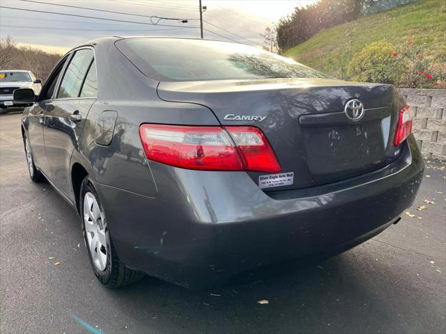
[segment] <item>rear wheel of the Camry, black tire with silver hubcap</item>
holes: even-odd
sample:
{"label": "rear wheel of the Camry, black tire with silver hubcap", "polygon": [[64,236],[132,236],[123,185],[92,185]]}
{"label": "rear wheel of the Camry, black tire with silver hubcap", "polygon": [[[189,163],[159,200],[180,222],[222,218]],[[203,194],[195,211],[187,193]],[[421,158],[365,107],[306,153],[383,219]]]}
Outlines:
{"label": "rear wheel of the Camry, black tire with silver hubcap", "polygon": [[144,276],[119,260],[107,226],[98,193],[89,177],[82,181],[79,196],[82,234],[96,278],[106,287],[116,289]]}

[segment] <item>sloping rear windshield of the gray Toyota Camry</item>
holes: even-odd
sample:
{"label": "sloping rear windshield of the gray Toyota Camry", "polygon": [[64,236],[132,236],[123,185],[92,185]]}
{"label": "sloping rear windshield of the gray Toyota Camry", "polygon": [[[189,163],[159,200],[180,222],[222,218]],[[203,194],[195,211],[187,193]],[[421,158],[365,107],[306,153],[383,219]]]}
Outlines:
{"label": "sloping rear windshield of the gray Toyota Camry", "polygon": [[230,42],[127,38],[116,47],[147,77],[159,81],[328,78],[289,58]]}

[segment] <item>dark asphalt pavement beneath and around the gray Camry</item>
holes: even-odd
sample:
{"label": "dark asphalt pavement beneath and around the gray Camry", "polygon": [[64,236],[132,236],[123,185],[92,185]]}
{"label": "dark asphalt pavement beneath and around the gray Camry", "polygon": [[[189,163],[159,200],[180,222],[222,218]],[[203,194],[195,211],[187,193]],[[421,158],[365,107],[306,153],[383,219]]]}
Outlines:
{"label": "dark asphalt pavement beneath and around the gray Camry", "polygon": [[426,160],[414,217],[330,260],[212,291],[109,290],[75,211],[29,179],[20,117],[0,116],[0,333],[446,333],[445,163]]}

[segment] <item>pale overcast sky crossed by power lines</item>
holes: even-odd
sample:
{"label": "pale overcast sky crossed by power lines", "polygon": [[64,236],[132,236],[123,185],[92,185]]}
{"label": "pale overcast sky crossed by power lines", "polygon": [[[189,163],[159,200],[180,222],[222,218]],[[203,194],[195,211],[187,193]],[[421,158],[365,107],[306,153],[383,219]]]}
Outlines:
{"label": "pale overcast sky crossed by power lines", "polygon": [[[204,37],[220,40],[225,40],[226,37],[258,46],[263,42],[259,33],[263,33],[266,26],[274,26],[280,17],[291,13],[296,6],[305,6],[314,2],[316,0],[202,0],[202,5],[207,6],[207,10],[203,13],[203,20],[206,21],[203,22],[203,28],[208,31],[204,31]],[[56,3],[130,15],[54,6]],[[199,26],[199,20],[197,20],[199,0],[0,0],[0,6],[2,7],[0,8],[1,38],[10,36],[19,43],[39,45],[42,49],[50,51],[66,51],[86,40],[108,35],[199,37],[200,33],[196,28]],[[60,13],[146,24],[107,21]],[[151,25],[150,23],[157,21],[155,17],[152,17],[153,15],[188,19],[188,22],[183,24],[175,20],[162,19],[157,25]],[[162,26],[162,24],[178,27]]]}

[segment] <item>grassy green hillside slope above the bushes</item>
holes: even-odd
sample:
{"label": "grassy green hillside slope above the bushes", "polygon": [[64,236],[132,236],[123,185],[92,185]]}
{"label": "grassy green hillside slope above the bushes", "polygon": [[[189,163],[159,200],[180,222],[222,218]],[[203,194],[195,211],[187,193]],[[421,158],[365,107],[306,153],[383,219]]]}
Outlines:
{"label": "grassy green hillside slope above the bushes", "polygon": [[446,0],[420,0],[406,6],[361,17],[325,29],[284,56],[335,77],[346,78],[352,56],[365,45],[387,40],[400,45],[407,40],[426,43],[429,54],[446,51]]}

